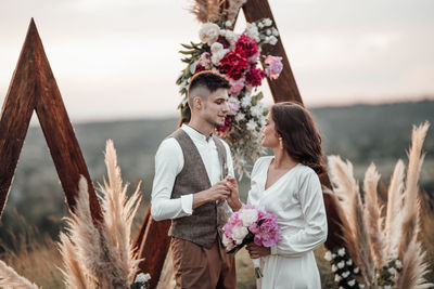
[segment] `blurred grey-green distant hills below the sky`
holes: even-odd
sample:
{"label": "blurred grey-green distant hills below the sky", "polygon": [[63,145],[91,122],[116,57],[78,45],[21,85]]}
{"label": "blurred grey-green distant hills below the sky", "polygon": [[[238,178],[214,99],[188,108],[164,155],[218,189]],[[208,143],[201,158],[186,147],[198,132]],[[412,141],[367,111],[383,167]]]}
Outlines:
{"label": "blurred grey-green distant hills below the sky", "polygon": [[[327,155],[341,155],[355,165],[357,178],[374,161],[382,181],[387,183],[398,158],[407,159],[411,127],[425,120],[434,123],[434,101],[382,105],[354,105],[311,109],[323,136]],[[130,121],[74,124],[94,183],[105,173],[103,150],[112,139],[117,149],[124,180],[135,186],[143,181],[142,192],[149,201],[154,174],[154,155],[162,140],[176,129],[178,119],[140,119]],[[422,183],[434,192],[434,132],[429,131]],[[242,197],[248,180],[240,184]],[[132,191],[132,188],[131,188]],[[67,213],[58,175],[39,127],[30,128],[20,159],[14,183],[1,224],[18,226],[12,212],[17,210],[26,221],[52,236],[59,233],[61,218]],[[1,227],[1,226],[0,226]],[[4,238],[0,229],[0,238]]]}

